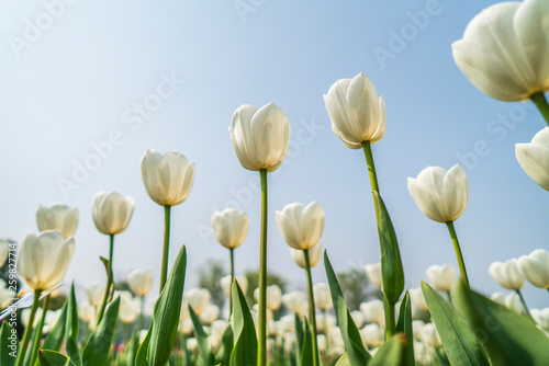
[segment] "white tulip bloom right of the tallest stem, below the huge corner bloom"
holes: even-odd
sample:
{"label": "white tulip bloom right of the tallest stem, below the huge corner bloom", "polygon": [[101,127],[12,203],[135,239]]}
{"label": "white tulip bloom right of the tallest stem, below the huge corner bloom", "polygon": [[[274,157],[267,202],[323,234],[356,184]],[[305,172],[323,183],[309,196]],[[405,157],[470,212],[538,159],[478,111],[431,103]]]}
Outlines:
{"label": "white tulip bloom right of the tallest stem, below the huge corner bloom", "polygon": [[408,178],[408,191],[422,213],[438,222],[455,221],[467,207],[467,176],[461,167],[424,169]]}

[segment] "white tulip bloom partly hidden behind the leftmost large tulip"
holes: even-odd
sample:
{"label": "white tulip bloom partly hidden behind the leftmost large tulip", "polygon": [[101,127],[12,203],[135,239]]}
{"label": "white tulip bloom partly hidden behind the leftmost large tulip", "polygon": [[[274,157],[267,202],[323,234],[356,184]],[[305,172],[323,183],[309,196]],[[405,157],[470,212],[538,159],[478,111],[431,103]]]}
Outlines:
{"label": "white tulip bloom partly hidden behind the leftmost large tulip", "polygon": [[68,239],[75,235],[78,225],[78,209],[65,204],[40,205],[36,210],[40,231],[59,230]]}

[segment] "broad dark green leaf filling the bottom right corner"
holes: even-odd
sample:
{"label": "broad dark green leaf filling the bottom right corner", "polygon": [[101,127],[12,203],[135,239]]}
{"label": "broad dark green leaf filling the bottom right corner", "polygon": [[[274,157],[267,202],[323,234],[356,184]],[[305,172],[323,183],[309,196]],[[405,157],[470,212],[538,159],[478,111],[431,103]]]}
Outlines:
{"label": "broad dark green leaf filling the bottom right corner", "polygon": [[470,290],[461,279],[452,299],[493,365],[549,365],[549,338],[529,319]]}

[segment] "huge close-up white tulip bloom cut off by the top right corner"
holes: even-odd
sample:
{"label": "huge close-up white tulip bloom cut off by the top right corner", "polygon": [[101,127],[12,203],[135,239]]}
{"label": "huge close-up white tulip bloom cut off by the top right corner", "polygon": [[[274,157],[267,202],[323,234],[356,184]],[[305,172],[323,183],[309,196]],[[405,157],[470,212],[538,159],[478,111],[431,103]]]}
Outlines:
{"label": "huge close-up white tulip bloom cut off by the top right corner", "polygon": [[480,91],[500,101],[525,101],[549,90],[545,0],[501,2],[484,9],[452,44],[453,59]]}

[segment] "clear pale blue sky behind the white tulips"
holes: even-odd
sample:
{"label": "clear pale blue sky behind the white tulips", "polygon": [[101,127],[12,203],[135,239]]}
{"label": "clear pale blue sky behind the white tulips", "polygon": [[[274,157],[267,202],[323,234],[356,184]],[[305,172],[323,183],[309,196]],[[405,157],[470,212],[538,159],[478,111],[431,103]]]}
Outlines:
{"label": "clear pale blue sky behind the white tulips", "polygon": [[[514,153],[545,126],[540,115],[530,103],[482,94],[451,57],[451,43],[491,3],[1,0],[0,236],[36,232],[40,204],[78,207],[67,279],[104,282],[98,258],[109,240],[94,228],[91,199],[100,191],[131,195],[136,208],[116,237],[115,275],[149,268],[158,285],[164,210],[145,192],[139,161],[148,148],[178,150],[197,164],[188,201],[172,209],[170,259],[188,245],[186,288],[209,259],[228,263],[210,228],[212,211],[227,205],[250,215],[237,273],[256,268],[258,173],[240,167],[227,128],[240,104],[274,102],[290,117],[292,147],[269,178],[269,271],[305,287],[274,220],[293,202],[324,207],[322,241],[337,272],[378,262],[363,155],[332,133],[322,98],[337,79],[362,71],[385,98],[386,134],[373,155],[406,287],[418,286],[432,264],[456,264],[446,227],[419,211],[406,178],[460,163],[469,206],[456,229],[471,284],[502,290],[488,266],[547,249],[549,205]],[[85,164],[94,170],[77,168]],[[326,281],[322,265],[313,276]],[[530,284],[525,296],[530,307],[547,305],[547,291]]]}

